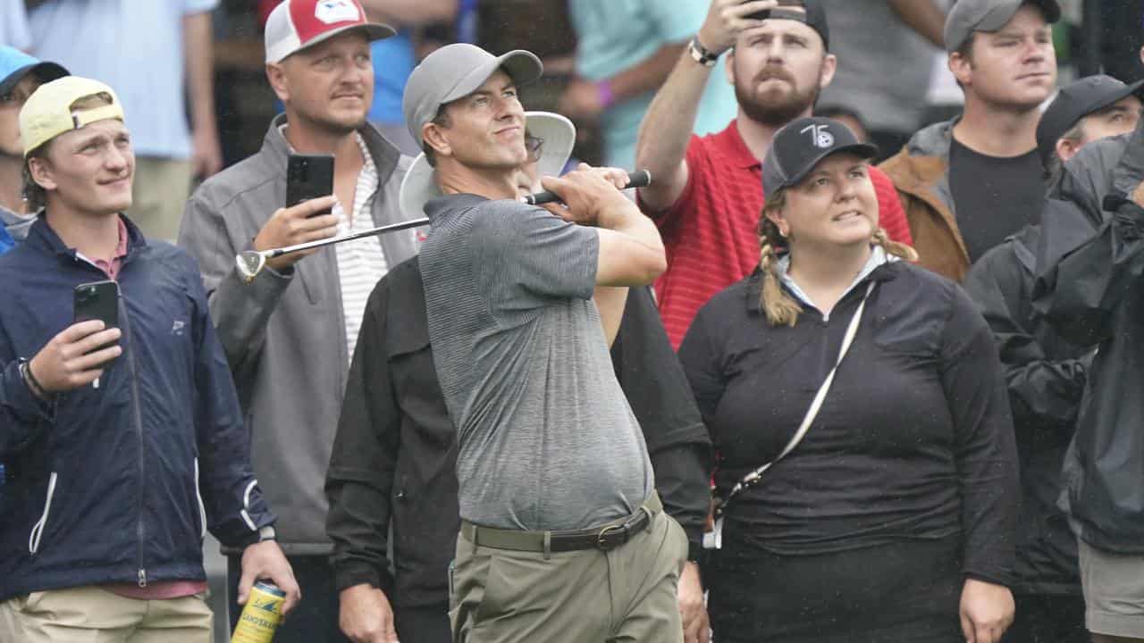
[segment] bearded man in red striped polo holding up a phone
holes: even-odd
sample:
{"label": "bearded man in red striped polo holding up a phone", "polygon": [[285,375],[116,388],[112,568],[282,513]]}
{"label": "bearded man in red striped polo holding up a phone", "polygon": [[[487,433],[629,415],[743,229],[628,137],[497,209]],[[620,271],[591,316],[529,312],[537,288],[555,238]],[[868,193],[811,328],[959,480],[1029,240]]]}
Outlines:
{"label": "bearded man in red striped polo holding up a phone", "polygon": [[[780,7],[781,5],[781,7]],[[757,19],[760,11],[771,11]],[[667,272],[656,283],[664,326],[678,348],[691,319],[712,295],[758,265],[763,157],[774,132],[811,116],[834,77],[826,13],[817,0],[713,0],[639,129],[637,167],[656,177],[639,205],[656,220]],[[715,59],[726,57],[738,118],[718,134],[691,136]],[[884,174],[871,172],[881,225],[896,241],[909,231]]]}

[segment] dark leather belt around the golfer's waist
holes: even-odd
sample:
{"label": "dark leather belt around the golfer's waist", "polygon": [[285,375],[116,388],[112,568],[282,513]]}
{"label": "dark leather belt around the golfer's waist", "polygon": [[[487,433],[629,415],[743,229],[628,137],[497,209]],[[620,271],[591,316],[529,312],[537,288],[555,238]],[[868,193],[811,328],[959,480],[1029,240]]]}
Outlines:
{"label": "dark leather belt around the golfer's waist", "polygon": [[579,551],[599,549],[609,551],[631,540],[648,529],[651,518],[664,510],[659,494],[652,493],[638,511],[626,518],[597,527],[569,531],[517,531],[483,527],[461,521],[461,535],[480,547],[513,551]]}

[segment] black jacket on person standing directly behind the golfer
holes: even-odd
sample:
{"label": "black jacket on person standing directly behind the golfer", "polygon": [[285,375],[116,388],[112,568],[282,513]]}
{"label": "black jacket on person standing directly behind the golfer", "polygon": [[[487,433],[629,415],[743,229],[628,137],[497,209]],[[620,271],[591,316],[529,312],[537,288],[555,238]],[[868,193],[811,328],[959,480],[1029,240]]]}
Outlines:
{"label": "black jacket on person standing directly behind the golfer", "polygon": [[[646,288],[628,295],[612,359],[667,513],[698,547],[710,501],[710,440]],[[455,463],[414,257],[370,295],[350,368],[326,478],[339,590],[370,584],[402,605],[447,602],[445,570],[460,529]],[[390,522],[396,574],[387,557]]]}

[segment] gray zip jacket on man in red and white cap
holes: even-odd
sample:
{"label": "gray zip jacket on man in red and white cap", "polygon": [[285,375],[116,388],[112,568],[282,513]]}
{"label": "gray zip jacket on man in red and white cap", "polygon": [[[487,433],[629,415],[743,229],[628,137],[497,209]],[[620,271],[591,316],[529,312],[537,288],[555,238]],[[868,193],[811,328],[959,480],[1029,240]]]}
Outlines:
{"label": "gray zip jacket on man in red and white cap", "polygon": [[[327,246],[285,273],[263,270],[243,283],[235,255],[286,201],[289,145],[270,124],[262,150],[210,177],[191,196],[178,245],[199,262],[210,313],[230,362],[252,432],[251,459],[267,502],[279,516],[278,540],[289,555],[325,555],[328,508],[323,483],[349,373],[345,320],[335,251]],[[378,167],[373,220],[405,216],[398,190],[410,167],[373,127],[360,130]],[[416,254],[412,233],[381,237],[389,265]]]}

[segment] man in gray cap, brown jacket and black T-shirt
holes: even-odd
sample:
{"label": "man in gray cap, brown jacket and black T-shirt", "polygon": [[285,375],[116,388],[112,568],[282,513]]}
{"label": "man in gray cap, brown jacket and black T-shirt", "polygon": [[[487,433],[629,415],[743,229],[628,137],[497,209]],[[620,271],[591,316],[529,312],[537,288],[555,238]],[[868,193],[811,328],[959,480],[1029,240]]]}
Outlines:
{"label": "man in gray cap, brown jacket and black T-shirt", "polygon": [[961,117],[931,125],[882,164],[921,264],[956,281],[1009,235],[1040,221],[1040,105],[1056,86],[1056,0],[961,0],[945,22]]}

